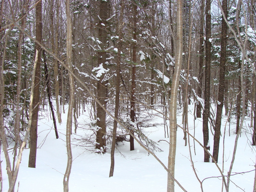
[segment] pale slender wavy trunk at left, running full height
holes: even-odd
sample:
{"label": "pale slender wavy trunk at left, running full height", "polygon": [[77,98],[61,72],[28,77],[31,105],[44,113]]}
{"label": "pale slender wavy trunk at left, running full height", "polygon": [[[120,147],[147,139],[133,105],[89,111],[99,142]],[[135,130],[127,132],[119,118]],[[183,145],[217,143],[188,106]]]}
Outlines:
{"label": "pale slender wavy trunk at left, running full height", "polygon": [[[70,1],[66,0],[66,14],[67,14],[67,66],[72,71],[72,21],[70,14]],[[71,131],[72,131],[72,113],[75,98],[75,83],[72,74],[68,73],[69,77],[69,105],[68,105],[68,118],[66,128],[66,145],[67,145],[67,168],[63,178],[63,191],[68,192],[68,181],[72,167],[72,150],[71,150]]]}

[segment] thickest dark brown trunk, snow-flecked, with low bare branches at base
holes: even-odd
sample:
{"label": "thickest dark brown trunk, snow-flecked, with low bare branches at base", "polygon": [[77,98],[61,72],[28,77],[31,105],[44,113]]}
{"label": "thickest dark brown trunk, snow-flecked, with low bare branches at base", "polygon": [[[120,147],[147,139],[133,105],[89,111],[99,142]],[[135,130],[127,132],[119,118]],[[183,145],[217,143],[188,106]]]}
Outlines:
{"label": "thickest dark brown trunk, snow-flecked, with low bare branches at base", "polygon": [[[106,52],[103,51],[106,49],[107,46],[107,19],[108,19],[108,6],[109,1],[100,0],[99,6],[100,6],[100,12],[99,12],[99,31],[98,36],[99,40],[101,42],[100,48],[101,50],[98,51],[98,65],[100,66],[102,64],[103,68],[107,68],[106,64]],[[103,25],[101,25],[103,23]],[[108,88],[106,86],[106,80],[104,74],[102,74],[99,77],[99,81],[97,82],[97,99],[100,101],[100,104],[106,108],[107,102],[107,92]],[[100,107],[100,105],[97,103],[97,127],[99,128],[96,135],[96,149],[99,149],[103,153],[106,152],[106,112],[103,108]]]}

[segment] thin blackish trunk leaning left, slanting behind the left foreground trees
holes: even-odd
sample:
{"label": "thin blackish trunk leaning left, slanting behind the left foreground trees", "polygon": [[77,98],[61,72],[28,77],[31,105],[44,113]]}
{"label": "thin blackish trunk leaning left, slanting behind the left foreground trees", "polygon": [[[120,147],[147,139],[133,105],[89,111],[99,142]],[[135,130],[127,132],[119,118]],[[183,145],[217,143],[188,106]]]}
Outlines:
{"label": "thin blackish trunk leaning left, slanting behind the left foreground trees", "polygon": [[56,139],[58,139],[59,134],[58,134],[58,130],[57,130],[57,124],[56,124],[56,119],[55,119],[55,115],[54,115],[54,109],[53,109],[53,106],[52,106],[52,93],[51,93],[51,85],[50,85],[51,81],[50,81],[50,77],[49,77],[49,74],[48,74],[47,62],[46,62],[46,58],[45,58],[45,51],[43,51],[43,57],[44,57],[44,75],[45,75],[45,81],[46,81],[47,96],[48,96],[48,101],[49,101],[49,105],[50,105],[51,112],[52,112],[52,120],[53,120]]}

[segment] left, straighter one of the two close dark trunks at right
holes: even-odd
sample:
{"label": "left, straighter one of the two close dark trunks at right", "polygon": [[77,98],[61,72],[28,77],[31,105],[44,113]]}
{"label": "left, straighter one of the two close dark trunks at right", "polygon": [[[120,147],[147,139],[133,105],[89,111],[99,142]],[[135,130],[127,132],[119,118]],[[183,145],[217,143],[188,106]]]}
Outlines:
{"label": "left, straighter one of the two close dark trunks at right", "polygon": [[[210,150],[208,119],[210,114],[210,80],[211,80],[211,0],[206,0],[205,9],[206,41],[205,41],[205,83],[204,83],[204,112],[203,112],[203,137],[204,147]],[[204,150],[204,162],[209,162],[210,156]]]}

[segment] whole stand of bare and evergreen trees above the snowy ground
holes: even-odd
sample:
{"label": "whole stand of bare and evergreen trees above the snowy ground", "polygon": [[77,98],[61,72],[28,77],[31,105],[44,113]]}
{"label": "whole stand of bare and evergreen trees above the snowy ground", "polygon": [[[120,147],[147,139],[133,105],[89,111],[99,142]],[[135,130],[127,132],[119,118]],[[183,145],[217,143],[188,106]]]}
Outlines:
{"label": "whole stand of bare and evergreen trees above the snowy ground", "polygon": [[[40,121],[52,122],[49,134],[66,142],[64,191],[75,146],[96,156],[111,154],[109,177],[115,178],[115,156],[124,143],[130,153],[140,146],[163,166],[168,192],[191,191],[175,176],[179,139],[201,190],[207,187],[194,155],[204,166],[212,162],[221,190],[229,191],[236,185],[230,184],[236,156],[243,155],[236,153],[241,134],[255,153],[255,3],[2,0],[0,192],[6,185],[2,175],[8,191],[19,188],[23,150],[29,151],[28,167],[37,168],[37,150],[47,143],[37,141],[44,132]],[[151,137],[156,128],[164,131],[161,138]],[[232,135],[226,157],[225,139]],[[162,142],[168,143],[166,161],[157,156]],[[228,171],[225,158],[231,161]]]}

